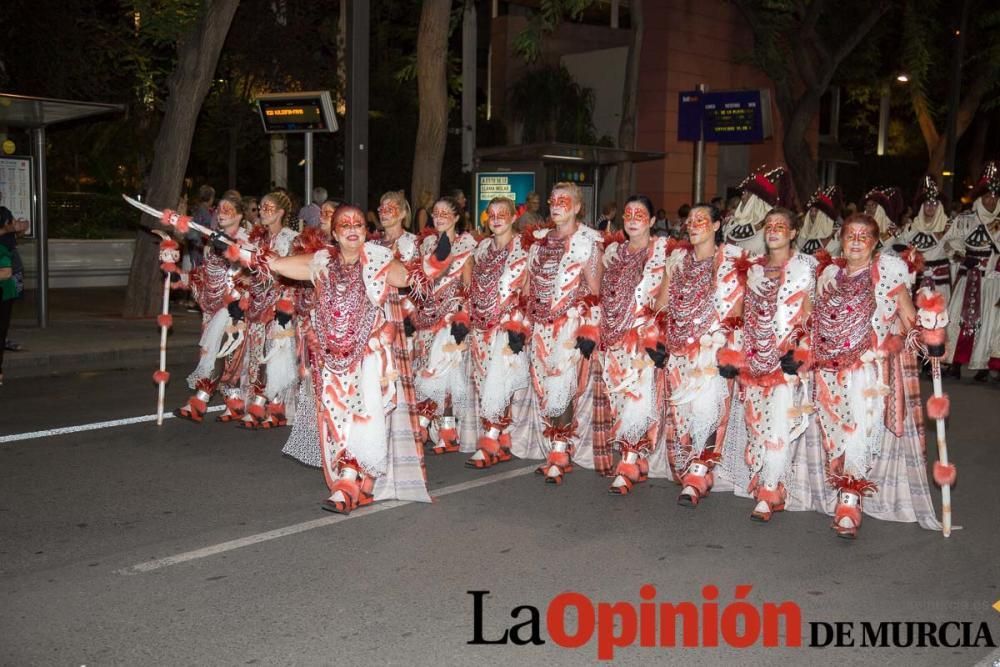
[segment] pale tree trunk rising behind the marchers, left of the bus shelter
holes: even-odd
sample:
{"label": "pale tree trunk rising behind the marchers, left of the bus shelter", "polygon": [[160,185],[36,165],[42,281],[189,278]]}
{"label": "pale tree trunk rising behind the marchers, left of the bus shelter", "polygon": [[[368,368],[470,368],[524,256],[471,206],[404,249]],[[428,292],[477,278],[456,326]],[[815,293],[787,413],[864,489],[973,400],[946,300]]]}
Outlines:
{"label": "pale tree trunk rising behind the marchers, left of the bus shelter", "polygon": [[417,97],[420,122],[413,152],[410,196],[441,191],[441,166],[448,132],[448,21],[451,0],[424,0],[417,32]]}

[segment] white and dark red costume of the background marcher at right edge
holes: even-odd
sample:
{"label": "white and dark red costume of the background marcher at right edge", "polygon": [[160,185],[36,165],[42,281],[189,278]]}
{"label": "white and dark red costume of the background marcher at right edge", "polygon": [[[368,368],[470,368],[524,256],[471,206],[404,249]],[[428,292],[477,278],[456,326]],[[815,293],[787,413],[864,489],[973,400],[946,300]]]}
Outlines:
{"label": "white and dark red costume of the background marcher at right edge", "polygon": [[[952,220],[946,239],[956,252],[977,261],[974,269],[965,266],[958,269],[954,296],[948,304],[948,345],[944,355],[946,360],[967,364],[972,370],[987,367],[991,339],[1000,327],[1000,309],[995,307],[1000,300],[1000,272],[997,271],[1000,204],[990,213],[982,201],[977,199],[972,211]],[[979,274],[978,281],[970,283],[970,271]]]}

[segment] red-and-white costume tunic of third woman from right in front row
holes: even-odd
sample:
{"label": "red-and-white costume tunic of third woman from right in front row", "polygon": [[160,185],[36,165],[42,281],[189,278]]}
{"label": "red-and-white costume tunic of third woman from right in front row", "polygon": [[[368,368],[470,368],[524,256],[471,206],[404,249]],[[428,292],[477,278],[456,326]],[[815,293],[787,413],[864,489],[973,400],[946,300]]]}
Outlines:
{"label": "red-and-white costume tunic of third woman from right in front row", "polygon": [[[705,451],[709,438],[724,431],[729,411],[729,382],[719,375],[717,355],[732,341],[725,320],[739,313],[743,286],[738,262],[746,253],[723,245],[703,260],[690,246],[667,258],[668,398],[673,433],[668,455],[680,478]],[[717,437],[721,453],[723,437]]]}

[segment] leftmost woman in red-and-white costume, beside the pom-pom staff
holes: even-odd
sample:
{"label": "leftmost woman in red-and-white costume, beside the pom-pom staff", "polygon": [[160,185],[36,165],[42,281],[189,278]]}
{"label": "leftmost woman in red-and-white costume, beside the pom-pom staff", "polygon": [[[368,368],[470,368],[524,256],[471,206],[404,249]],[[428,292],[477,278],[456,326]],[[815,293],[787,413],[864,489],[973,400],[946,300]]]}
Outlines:
{"label": "leftmost woman in red-and-white costume, beside the pom-pom staff", "polygon": [[[248,241],[243,223],[243,201],[224,196],[218,207],[219,233],[236,241]],[[191,270],[191,296],[202,312],[201,359],[187,382],[195,394],[174,411],[183,419],[200,423],[208,403],[218,388],[225,400],[225,411],[216,420],[238,421],[246,407],[242,371],[246,348],[246,309],[249,307],[249,275],[238,264],[235,250],[230,251],[219,239],[206,250],[204,260]],[[223,359],[221,374],[216,364]]]}

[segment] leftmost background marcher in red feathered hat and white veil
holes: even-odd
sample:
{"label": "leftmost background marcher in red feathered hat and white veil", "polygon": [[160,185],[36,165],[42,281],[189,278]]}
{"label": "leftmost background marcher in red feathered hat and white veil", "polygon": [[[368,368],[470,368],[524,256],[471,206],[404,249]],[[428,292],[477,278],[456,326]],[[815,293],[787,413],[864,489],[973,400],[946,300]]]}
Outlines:
{"label": "leftmost background marcher in red feathered hat and white veil", "polygon": [[775,206],[795,207],[792,179],[784,167],[760,167],[740,183],[740,203],[722,228],[726,243],[752,255],[765,251],[764,216]]}

